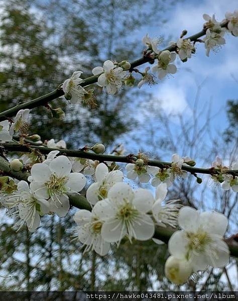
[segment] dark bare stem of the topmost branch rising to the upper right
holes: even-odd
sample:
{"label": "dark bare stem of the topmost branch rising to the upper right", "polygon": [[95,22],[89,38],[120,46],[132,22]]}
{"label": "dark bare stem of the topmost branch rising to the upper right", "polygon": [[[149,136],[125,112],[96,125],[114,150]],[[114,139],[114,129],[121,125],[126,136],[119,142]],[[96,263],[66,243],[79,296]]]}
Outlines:
{"label": "dark bare stem of the topmost branch rising to the upper right", "polygon": [[[226,27],[227,26],[227,21],[224,21],[224,22],[220,23],[220,25],[221,25],[221,27]],[[197,42],[197,40],[200,37],[204,36],[205,34],[206,34],[206,30],[203,29],[202,31],[198,32],[197,34],[194,34],[194,35],[192,35],[192,36],[190,36],[186,39],[190,39],[191,42]],[[176,45],[171,45],[171,46],[166,47],[165,49],[163,49],[161,51],[164,51],[164,50],[176,51],[177,46]],[[138,60],[135,60],[134,62],[131,63],[130,71],[133,71],[134,68],[136,68],[140,65],[143,65],[143,64],[148,63],[148,62],[152,62],[153,60],[154,60],[154,58],[151,58],[149,56],[143,56],[142,58],[140,58]],[[98,75],[93,75],[93,76],[87,77],[87,78],[84,79],[84,82],[81,83],[81,86],[86,87],[90,84],[93,84],[93,83],[97,82],[97,78],[98,78]],[[59,96],[62,96],[62,95],[64,95],[64,92],[62,90],[62,87],[59,86],[56,90],[54,90],[50,93],[47,93],[43,96],[35,98],[32,101],[19,104],[19,105],[15,106],[11,109],[8,109],[8,110],[0,113],[0,121],[5,120],[7,117],[15,116],[19,110],[33,109],[33,108],[36,108],[36,107],[39,107],[39,106],[44,106],[47,103],[53,101],[55,98],[57,98]]]}

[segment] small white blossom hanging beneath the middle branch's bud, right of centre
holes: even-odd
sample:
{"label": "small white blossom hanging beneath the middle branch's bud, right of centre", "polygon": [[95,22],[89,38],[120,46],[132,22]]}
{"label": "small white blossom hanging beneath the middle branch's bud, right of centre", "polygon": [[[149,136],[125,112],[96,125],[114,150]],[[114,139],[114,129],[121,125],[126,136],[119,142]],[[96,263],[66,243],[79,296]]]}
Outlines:
{"label": "small white blossom hanging beneath the middle branch's bud, right of centre", "polygon": [[138,177],[141,183],[148,183],[150,180],[150,174],[155,174],[157,167],[142,165],[138,166],[134,163],[128,163],[126,166],[127,177],[131,180],[136,180]]}

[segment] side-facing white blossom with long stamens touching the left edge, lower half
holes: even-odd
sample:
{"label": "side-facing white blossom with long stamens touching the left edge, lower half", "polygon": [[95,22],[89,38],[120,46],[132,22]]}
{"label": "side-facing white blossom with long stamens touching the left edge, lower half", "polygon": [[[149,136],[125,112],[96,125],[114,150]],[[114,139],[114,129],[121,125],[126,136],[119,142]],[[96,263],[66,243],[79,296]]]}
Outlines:
{"label": "side-facing white blossom with long stamens touching the left edge, lower half", "polygon": [[40,216],[50,211],[49,202],[42,197],[36,198],[26,181],[20,181],[18,190],[3,196],[1,202],[9,212],[15,209],[12,216],[18,219],[15,224],[18,230],[26,223],[30,231],[35,231],[40,226]]}

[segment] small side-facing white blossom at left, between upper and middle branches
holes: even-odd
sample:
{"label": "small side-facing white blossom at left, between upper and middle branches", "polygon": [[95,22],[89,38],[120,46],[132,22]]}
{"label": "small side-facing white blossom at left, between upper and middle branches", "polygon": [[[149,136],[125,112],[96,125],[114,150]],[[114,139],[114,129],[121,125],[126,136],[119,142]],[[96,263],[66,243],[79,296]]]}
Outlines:
{"label": "small side-facing white blossom at left, between upper and middle branches", "polygon": [[20,133],[25,134],[28,132],[28,117],[30,114],[29,109],[20,110],[16,118],[14,120],[14,123],[10,127],[10,135],[13,136],[14,133]]}

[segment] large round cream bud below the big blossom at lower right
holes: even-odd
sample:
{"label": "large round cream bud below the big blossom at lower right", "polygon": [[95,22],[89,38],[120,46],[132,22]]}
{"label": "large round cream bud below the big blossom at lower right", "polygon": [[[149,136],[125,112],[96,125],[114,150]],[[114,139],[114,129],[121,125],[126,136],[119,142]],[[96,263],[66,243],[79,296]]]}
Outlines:
{"label": "large round cream bud below the big blossom at lower right", "polygon": [[170,281],[176,284],[183,284],[191,274],[192,267],[185,259],[178,259],[174,256],[170,256],[167,259],[165,263],[165,275]]}

